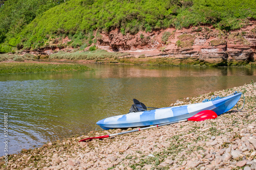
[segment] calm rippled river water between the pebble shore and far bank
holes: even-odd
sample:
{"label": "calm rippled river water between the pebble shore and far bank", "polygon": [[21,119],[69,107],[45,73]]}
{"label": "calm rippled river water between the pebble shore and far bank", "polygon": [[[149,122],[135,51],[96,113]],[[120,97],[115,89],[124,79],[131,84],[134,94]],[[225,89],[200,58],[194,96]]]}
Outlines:
{"label": "calm rippled river water between the pebble shore and far bank", "polygon": [[147,67],[86,64],[94,71],[0,76],[1,144],[8,113],[8,154],[101,130],[96,122],[129,112],[133,98],[149,107],[256,81],[254,68]]}

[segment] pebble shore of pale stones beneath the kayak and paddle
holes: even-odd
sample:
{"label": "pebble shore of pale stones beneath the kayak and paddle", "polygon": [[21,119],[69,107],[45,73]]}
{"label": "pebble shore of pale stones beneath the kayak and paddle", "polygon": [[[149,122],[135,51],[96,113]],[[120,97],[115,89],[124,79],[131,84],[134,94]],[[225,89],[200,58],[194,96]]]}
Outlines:
{"label": "pebble shore of pale stones beneath the kayak and paddle", "polygon": [[[256,83],[187,98],[173,105],[202,102],[241,91],[244,109],[216,119],[182,122],[113,138],[78,140],[118,133],[115,129],[49,142],[1,157],[1,169],[256,169]],[[239,108],[243,105],[243,95]]]}

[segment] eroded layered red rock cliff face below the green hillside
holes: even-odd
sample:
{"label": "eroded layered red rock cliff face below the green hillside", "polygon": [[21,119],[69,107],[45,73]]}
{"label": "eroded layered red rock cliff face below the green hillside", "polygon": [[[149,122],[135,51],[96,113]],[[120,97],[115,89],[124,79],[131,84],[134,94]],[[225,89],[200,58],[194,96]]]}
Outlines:
{"label": "eroded layered red rock cliff face below the green hillside", "polygon": [[159,56],[164,53],[165,57],[191,58],[209,62],[254,61],[256,60],[256,21],[251,19],[246,28],[230,32],[202,26],[123,35],[116,29],[102,34],[98,45],[109,52],[128,51],[131,54],[141,50],[154,50],[154,53],[151,51],[148,54],[143,51],[145,56]]}

